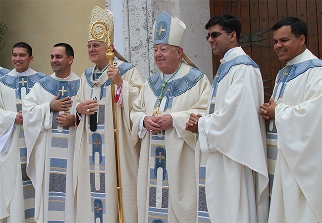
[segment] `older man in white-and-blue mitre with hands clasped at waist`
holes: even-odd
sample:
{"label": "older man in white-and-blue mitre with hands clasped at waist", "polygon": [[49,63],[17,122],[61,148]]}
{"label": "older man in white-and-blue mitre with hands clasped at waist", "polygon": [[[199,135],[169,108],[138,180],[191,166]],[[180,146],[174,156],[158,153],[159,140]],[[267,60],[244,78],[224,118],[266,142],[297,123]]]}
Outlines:
{"label": "older man in white-and-blue mitre with hands clasped at waist", "polygon": [[146,81],[131,111],[132,140],[141,146],[140,223],[186,223],[197,217],[196,141],[185,131],[185,120],[191,112],[206,111],[210,83],[183,53],[185,29],[165,11],[157,18],[154,58],[160,72]]}

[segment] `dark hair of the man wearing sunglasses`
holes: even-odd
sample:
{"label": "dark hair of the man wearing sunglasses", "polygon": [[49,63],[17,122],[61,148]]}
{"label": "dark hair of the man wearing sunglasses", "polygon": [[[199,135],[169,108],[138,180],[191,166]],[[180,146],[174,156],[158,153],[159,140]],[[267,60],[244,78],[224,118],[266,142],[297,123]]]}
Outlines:
{"label": "dark hair of the man wearing sunglasses", "polygon": [[236,32],[237,42],[239,42],[240,37],[240,30],[241,30],[241,23],[235,16],[229,14],[221,14],[214,16],[213,18],[209,19],[208,23],[206,24],[205,28],[208,30],[213,25],[220,25],[221,29],[225,32]]}

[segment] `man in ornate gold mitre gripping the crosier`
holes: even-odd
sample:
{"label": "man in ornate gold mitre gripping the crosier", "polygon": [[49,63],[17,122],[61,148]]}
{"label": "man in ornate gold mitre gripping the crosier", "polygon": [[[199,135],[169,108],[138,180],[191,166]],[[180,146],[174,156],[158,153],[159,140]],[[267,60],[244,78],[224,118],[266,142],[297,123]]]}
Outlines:
{"label": "man in ornate gold mitre gripping the crosier", "polygon": [[[114,49],[113,36],[113,13],[96,6],[89,19],[87,45],[95,66],[82,75],[76,99],[76,111],[81,118],[74,156],[76,222],[117,223],[120,219],[125,223],[138,222],[139,151],[131,144],[130,111],[143,81],[137,68]],[[110,58],[111,63],[107,50],[116,56]],[[111,81],[116,92],[113,101]],[[112,103],[116,103],[117,139],[114,138]],[[115,140],[119,151],[120,190],[116,182]],[[120,209],[118,199],[122,203]]]}

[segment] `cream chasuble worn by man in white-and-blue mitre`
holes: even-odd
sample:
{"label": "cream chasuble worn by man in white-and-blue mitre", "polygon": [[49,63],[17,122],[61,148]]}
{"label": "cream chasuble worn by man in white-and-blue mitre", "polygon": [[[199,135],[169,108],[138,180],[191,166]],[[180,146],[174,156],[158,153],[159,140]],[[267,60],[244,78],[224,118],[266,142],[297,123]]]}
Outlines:
{"label": "cream chasuble worn by man in white-and-blue mitre", "polygon": [[[206,111],[210,83],[200,70],[185,63],[179,77],[165,85],[160,106],[162,74],[151,76],[133,105],[132,140],[141,146],[138,173],[139,222],[191,222],[197,216],[194,168],[195,136],[185,130],[191,112]],[[139,140],[144,115],[172,116],[174,127]],[[180,136],[179,136],[180,135]]]}

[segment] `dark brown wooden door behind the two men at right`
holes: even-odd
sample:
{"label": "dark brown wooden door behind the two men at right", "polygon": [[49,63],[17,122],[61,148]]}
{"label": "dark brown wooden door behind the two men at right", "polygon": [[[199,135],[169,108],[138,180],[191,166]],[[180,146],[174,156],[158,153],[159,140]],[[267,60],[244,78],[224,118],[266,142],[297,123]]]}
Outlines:
{"label": "dark brown wooden door behind the two men at right", "polygon": [[[308,27],[308,49],[322,58],[322,0],[210,0],[211,17],[232,14],[241,24],[240,46],[261,67],[268,102],[277,72],[285,66],[273,49],[270,28],[280,19],[298,17]],[[215,75],[220,56],[213,55]]]}

